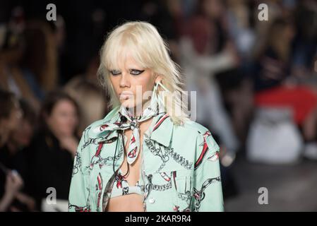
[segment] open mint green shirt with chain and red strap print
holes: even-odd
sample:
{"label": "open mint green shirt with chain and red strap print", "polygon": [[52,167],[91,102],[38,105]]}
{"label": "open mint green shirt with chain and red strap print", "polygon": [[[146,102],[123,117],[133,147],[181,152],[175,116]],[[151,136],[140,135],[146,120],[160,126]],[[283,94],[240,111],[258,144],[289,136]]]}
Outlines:
{"label": "open mint green shirt with chain and red strap print", "polygon": [[[94,133],[120,121],[119,107],[83,131],[74,159],[68,211],[104,211],[114,171],[124,161],[117,131]],[[126,143],[124,136],[124,143]],[[174,125],[166,113],[153,117],[143,135],[140,182],[145,211],[223,211],[219,146],[194,121]]]}

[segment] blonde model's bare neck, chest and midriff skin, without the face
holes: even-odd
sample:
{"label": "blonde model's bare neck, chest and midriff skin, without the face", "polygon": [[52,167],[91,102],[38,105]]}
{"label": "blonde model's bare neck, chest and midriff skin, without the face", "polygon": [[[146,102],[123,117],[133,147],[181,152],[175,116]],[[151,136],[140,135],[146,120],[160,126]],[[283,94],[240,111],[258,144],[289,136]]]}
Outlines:
{"label": "blonde model's bare neck, chest and midriff skin, without the face", "polygon": [[[130,165],[130,172],[126,176],[126,180],[129,186],[134,186],[140,179],[140,165],[142,160],[142,144],[143,144],[143,134],[148,130],[152,122],[152,118],[140,122],[140,153],[136,158],[136,161]],[[130,141],[132,130],[126,129],[124,134],[127,136]],[[128,150],[128,142],[126,142],[126,150]],[[126,157],[124,156],[124,162],[121,165],[121,172],[126,174],[128,168],[126,163]],[[107,212],[143,212],[143,196],[139,194],[128,194],[126,196],[117,196],[114,198],[109,198],[108,205],[106,208]]]}

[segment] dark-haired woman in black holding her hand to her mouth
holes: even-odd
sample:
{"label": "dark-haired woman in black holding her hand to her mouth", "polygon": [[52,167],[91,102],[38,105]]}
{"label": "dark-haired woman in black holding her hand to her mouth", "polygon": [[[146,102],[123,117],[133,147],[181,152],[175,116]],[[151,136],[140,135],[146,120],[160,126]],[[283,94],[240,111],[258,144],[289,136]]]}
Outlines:
{"label": "dark-haired woman in black holding her hand to her mouth", "polygon": [[26,186],[41,210],[47,210],[43,206],[45,203],[40,201],[46,200],[49,188],[55,189],[57,200],[68,198],[73,157],[78,145],[78,115],[77,103],[66,93],[49,93],[42,105],[40,129],[25,150],[28,157]]}

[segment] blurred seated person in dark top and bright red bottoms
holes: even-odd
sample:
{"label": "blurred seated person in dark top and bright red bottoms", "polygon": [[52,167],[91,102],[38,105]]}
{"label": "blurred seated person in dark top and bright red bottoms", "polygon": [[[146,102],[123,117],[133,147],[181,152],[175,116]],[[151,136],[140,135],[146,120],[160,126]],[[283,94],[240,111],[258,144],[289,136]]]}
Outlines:
{"label": "blurred seated person in dark top and bright red bottoms", "polygon": [[[276,18],[270,26],[263,49],[258,52],[253,83],[256,107],[289,107],[293,121],[306,144],[316,141],[317,94],[308,85],[296,82],[292,74],[292,43],[296,32],[291,18]],[[317,148],[309,158],[317,159]],[[304,155],[306,155],[304,153]]]}

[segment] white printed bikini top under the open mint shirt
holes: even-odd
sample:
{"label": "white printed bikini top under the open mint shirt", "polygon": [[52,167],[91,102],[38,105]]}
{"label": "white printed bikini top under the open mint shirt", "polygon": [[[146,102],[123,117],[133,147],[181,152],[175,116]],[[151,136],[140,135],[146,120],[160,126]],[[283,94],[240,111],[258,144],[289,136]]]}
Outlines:
{"label": "white printed bikini top under the open mint shirt", "polygon": [[122,176],[121,169],[119,169],[118,174],[114,177],[114,184],[112,186],[112,191],[110,193],[110,198],[116,196],[125,196],[128,194],[143,194],[144,186],[141,185],[140,180],[134,186],[130,186],[126,181],[126,177]]}

